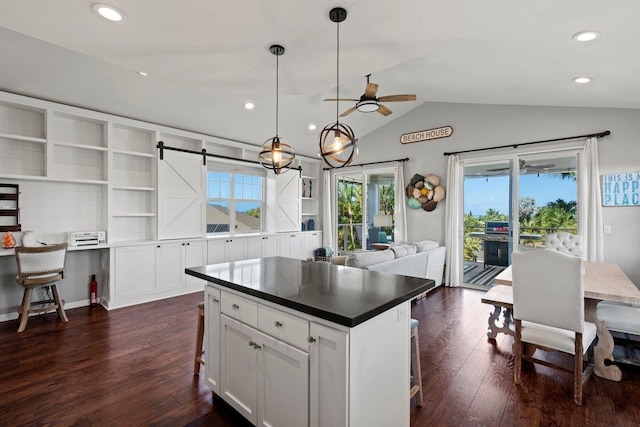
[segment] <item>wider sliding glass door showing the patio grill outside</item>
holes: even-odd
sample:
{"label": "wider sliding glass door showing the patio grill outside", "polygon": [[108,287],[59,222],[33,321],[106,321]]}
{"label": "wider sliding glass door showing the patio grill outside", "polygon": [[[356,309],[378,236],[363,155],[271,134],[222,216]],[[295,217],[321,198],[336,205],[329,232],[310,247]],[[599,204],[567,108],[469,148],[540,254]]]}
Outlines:
{"label": "wider sliding glass door showing the patio grill outside", "polygon": [[463,191],[465,284],[490,286],[514,251],[544,248],[548,233],[576,233],[576,152],[466,161]]}

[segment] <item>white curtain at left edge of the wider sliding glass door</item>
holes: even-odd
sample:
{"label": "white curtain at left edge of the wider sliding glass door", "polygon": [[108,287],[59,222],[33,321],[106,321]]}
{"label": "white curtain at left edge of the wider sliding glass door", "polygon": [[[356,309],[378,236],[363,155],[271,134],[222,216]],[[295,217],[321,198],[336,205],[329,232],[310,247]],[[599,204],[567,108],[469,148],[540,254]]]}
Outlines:
{"label": "white curtain at left edge of the wider sliding glass door", "polygon": [[445,258],[445,285],[460,286],[462,284],[462,236],[464,200],[462,189],[462,167],[457,155],[450,155],[447,165],[447,203],[445,208],[444,244],[447,248]]}

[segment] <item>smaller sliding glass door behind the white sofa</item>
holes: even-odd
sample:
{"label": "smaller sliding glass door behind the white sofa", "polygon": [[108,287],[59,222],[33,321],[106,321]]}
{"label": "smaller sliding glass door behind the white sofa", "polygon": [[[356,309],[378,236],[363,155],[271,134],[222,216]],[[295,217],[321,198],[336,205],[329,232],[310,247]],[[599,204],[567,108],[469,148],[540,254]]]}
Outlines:
{"label": "smaller sliding glass door behind the white sofa", "polygon": [[339,253],[371,249],[394,239],[393,169],[336,173],[336,246]]}

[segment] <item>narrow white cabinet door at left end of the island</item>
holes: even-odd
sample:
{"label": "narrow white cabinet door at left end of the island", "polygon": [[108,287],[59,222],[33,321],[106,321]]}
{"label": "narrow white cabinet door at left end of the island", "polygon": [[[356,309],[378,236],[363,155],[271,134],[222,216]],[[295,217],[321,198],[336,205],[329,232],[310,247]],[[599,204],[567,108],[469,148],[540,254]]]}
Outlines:
{"label": "narrow white cabinet door at left end of the island", "polygon": [[211,286],[205,292],[205,382],[220,394],[220,291]]}

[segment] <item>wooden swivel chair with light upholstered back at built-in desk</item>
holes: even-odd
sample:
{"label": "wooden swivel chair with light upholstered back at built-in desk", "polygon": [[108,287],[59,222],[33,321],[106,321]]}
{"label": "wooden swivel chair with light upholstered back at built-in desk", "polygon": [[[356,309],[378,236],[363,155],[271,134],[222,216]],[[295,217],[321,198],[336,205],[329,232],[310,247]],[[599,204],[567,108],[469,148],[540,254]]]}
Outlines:
{"label": "wooden swivel chair with light upholstered back at built-in desk", "polygon": [[[64,278],[64,264],[67,257],[67,244],[37,247],[16,247],[18,262],[18,284],[24,287],[22,304],[18,314],[18,332],[27,327],[29,314],[44,313],[55,309],[63,322],[68,322],[64,312],[64,301],[60,299],[56,283]],[[46,288],[48,298],[31,301],[34,288]],[[50,292],[50,293],[49,293]],[[36,306],[32,308],[32,306]]]}

